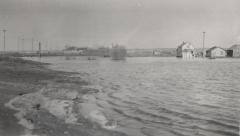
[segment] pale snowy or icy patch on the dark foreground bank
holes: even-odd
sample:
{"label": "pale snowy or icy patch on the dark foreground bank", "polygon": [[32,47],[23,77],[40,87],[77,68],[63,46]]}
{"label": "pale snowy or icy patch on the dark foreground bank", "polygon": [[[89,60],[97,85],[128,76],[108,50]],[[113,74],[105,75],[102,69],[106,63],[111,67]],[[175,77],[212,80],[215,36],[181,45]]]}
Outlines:
{"label": "pale snowy or icy patch on the dark foreground bank", "polygon": [[[102,110],[97,107],[93,95],[82,95],[76,90],[50,86],[35,93],[17,96],[5,104],[6,107],[18,111],[15,114],[19,120],[18,123],[26,129],[23,136],[37,136],[32,135],[34,122],[27,119],[26,115],[27,113],[37,113],[40,109],[47,110],[69,124],[80,123],[78,117],[82,116],[105,129],[116,127],[116,123],[108,120]],[[81,102],[76,101],[78,99],[81,99]]]}

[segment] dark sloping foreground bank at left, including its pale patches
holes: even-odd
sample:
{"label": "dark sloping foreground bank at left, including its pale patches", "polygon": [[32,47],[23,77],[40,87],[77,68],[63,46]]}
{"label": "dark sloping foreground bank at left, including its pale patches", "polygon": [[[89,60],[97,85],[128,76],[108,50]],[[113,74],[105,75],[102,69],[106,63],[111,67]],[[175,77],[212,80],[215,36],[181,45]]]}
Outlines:
{"label": "dark sloping foreground bank at left, including its pale patches", "polygon": [[76,73],[48,64],[0,58],[0,135],[122,136],[97,108],[91,88]]}

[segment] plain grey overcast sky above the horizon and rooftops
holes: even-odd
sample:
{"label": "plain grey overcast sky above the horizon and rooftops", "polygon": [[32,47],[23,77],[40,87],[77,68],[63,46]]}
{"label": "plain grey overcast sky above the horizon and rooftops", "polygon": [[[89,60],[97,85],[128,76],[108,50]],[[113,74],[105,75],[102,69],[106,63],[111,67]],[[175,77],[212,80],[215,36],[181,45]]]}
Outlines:
{"label": "plain grey overcast sky above the horizon and rooftops", "polygon": [[[7,49],[64,45],[175,48],[182,41],[206,47],[240,43],[240,0],[0,0]],[[3,47],[0,33],[0,50]],[[19,39],[19,40],[18,40]],[[35,45],[37,46],[36,42]]]}

